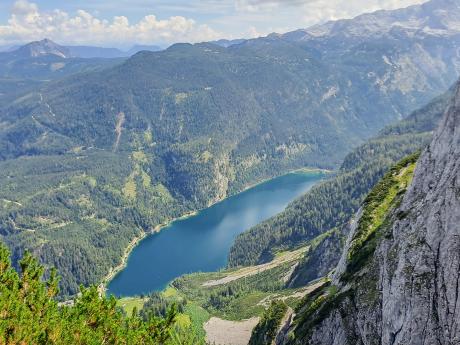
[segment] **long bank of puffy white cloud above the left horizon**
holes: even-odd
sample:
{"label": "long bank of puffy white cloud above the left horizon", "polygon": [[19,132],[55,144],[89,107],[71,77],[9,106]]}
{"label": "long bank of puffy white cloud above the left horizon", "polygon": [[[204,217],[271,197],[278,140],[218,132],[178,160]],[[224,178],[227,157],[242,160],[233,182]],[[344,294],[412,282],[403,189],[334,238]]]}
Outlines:
{"label": "long bank of puffy white cloud above the left horizon", "polygon": [[40,11],[35,3],[14,3],[8,24],[0,25],[0,44],[15,44],[44,37],[65,44],[130,45],[133,43],[199,42],[221,35],[193,19],[173,16],[160,20],[146,15],[131,24],[127,17],[104,20],[79,10],[75,15],[62,10]]}

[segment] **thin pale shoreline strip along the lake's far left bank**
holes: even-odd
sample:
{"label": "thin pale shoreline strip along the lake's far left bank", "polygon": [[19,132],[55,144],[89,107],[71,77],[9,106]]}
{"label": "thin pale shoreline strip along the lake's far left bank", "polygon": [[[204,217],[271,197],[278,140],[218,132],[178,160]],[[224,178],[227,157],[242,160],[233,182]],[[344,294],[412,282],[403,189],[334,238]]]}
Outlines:
{"label": "thin pale shoreline strip along the lake's far left bank", "polygon": [[142,240],[144,240],[145,238],[147,238],[150,235],[159,233],[162,229],[170,226],[172,223],[174,223],[176,221],[179,221],[179,220],[187,219],[187,218],[192,217],[192,216],[195,216],[195,215],[199,214],[201,211],[203,211],[203,210],[205,210],[205,209],[207,209],[209,207],[212,207],[215,204],[220,203],[220,202],[222,202],[222,201],[224,201],[224,200],[226,200],[228,198],[231,198],[232,196],[235,196],[237,194],[243,193],[243,192],[245,192],[245,191],[247,191],[249,189],[255,188],[255,187],[257,187],[257,186],[259,186],[261,184],[264,184],[264,183],[266,183],[268,181],[271,181],[273,179],[279,178],[281,176],[285,176],[285,175],[289,175],[289,174],[295,174],[295,173],[324,173],[324,174],[330,174],[331,172],[332,172],[331,170],[319,169],[319,168],[300,168],[300,169],[291,170],[291,171],[289,171],[289,172],[287,172],[286,174],[283,174],[283,175],[262,179],[261,181],[259,181],[257,183],[248,185],[247,187],[245,187],[244,189],[242,189],[241,191],[239,191],[237,193],[227,195],[227,196],[225,196],[223,198],[215,200],[215,201],[213,201],[212,203],[210,203],[209,205],[207,205],[206,207],[204,207],[202,209],[195,210],[195,211],[189,211],[189,212],[185,213],[182,216],[172,218],[171,220],[168,220],[168,221],[165,221],[163,223],[160,223],[160,224],[156,225],[154,228],[152,228],[149,231],[142,232],[140,235],[134,237],[129,242],[129,244],[127,245],[127,247],[125,248],[125,250],[123,252],[120,264],[115,266],[115,267],[113,267],[113,268],[111,268],[109,273],[107,273],[107,275],[103,278],[102,282],[99,284],[99,287],[98,287],[100,294],[105,294],[106,291],[107,291],[107,287],[110,284],[110,282],[117,276],[118,273],[120,273],[124,268],[126,268],[126,266],[128,264],[129,256],[131,255],[132,251],[140,244],[140,242]]}

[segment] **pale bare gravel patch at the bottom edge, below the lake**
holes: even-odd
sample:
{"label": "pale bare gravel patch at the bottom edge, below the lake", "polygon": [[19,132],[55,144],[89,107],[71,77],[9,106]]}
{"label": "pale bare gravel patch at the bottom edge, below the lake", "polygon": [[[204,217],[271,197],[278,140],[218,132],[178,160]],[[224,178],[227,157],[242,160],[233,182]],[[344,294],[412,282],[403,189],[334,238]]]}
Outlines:
{"label": "pale bare gravel patch at the bottom edge, below the lake", "polygon": [[247,345],[254,327],[260,318],[243,321],[228,321],[212,317],[204,324],[206,341],[215,345]]}

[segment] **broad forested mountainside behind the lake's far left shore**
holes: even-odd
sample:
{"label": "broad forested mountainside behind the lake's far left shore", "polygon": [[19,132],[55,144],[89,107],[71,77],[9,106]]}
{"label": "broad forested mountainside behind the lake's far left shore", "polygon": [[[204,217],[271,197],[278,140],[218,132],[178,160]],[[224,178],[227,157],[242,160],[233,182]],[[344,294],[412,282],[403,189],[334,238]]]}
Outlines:
{"label": "broad forested mountainside behind the lake's far left shore", "polygon": [[177,44],[47,83],[0,111],[2,237],[14,259],[28,248],[57,266],[63,294],[75,293],[172,217],[291,169],[338,166],[454,82],[459,42]]}

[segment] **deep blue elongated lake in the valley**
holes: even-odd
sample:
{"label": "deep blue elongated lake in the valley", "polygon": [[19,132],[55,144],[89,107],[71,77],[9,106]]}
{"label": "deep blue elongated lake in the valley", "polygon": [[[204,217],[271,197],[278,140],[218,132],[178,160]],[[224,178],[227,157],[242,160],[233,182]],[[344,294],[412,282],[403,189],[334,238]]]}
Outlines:
{"label": "deep blue elongated lake in the valley", "polygon": [[282,211],[310,189],[322,173],[291,173],[225,199],[197,215],[178,220],[145,238],[108,293],[134,296],[163,290],[186,273],[212,272],[226,265],[235,237]]}

